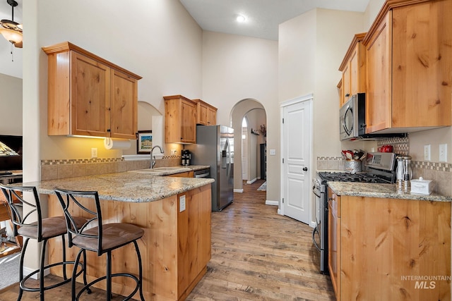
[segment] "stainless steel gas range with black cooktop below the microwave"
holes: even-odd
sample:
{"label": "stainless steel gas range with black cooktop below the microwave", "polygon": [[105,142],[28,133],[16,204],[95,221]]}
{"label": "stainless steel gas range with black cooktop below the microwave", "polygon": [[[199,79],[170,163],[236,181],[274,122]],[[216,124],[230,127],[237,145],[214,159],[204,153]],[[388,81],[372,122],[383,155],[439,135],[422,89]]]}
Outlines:
{"label": "stainless steel gas range with black cooktop below the microwave", "polygon": [[313,180],[316,199],[316,227],[312,241],[320,252],[320,271],[328,274],[328,181],[356,183],[395,183],[396,154],[371,152],[364,162],[364,173],[319,172]]}

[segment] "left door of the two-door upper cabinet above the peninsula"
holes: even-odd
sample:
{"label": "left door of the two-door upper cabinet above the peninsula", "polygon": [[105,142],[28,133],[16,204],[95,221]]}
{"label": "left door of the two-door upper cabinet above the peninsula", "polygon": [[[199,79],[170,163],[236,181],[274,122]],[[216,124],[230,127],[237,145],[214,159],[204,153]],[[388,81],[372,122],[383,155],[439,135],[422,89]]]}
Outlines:
{"label": "left door of the two-door upper cabinet above the peninsula", "polygon": [[109,137],[110,68],[71,51],[71,134]]}

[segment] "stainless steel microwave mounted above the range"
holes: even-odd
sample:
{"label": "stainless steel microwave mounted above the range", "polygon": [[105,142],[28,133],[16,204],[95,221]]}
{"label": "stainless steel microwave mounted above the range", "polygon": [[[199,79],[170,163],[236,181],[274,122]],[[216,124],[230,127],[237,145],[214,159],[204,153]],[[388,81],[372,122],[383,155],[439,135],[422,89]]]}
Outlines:
{"label": "stainless steel microwave mounted above the range", "polygon": [[357,93],[340,108],[340,140],[350,140],[366,133],[366,94]]}

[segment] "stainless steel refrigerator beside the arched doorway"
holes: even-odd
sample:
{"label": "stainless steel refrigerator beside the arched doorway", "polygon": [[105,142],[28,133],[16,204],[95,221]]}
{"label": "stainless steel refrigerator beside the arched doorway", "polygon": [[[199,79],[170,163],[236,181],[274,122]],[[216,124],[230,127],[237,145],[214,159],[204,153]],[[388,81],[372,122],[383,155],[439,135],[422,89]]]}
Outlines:
{"label": "stainless steel refrigerator beside the arched doorway", "polygon": [[196,144],[185,145],[191,164],[210,165],[212,211],[221,211],[234,199],[234,129],[225,125],[197,125]]}

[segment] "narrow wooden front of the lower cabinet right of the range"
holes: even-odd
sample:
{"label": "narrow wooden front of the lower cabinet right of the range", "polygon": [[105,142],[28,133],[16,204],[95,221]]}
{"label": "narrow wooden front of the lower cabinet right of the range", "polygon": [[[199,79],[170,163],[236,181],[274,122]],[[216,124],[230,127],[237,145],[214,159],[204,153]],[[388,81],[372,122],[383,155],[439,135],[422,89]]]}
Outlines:
{"label": "narrow wooden front of the lower cabinet right of the range", "polygon": [[340,197],[328,188],[328,271],[340,301]]}

